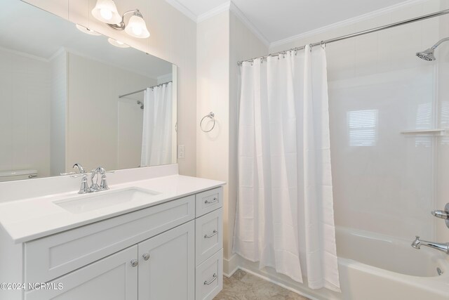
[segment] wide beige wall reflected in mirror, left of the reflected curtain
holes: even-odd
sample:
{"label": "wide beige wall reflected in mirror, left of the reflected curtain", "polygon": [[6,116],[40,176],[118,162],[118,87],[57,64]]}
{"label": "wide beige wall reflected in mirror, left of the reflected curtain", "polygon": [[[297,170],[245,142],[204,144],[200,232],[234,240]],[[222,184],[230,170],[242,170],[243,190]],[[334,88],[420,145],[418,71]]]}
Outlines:
{"label": "wide beige wall reflected in mirror, left of the reflected curtain", "polygon": [[[68,53],[67,171],[76,162],[87,170],[98,166],[118,169],[119,95],[155,84],[156,79]],[[133,105],[139,112],[140,107]],[[129,122],[127,130],[142,133],[142,124],[134,124],[134,131]],[[141,149],[135,157],[138,161]],[[126,155],[136,155],[135,151]]]}

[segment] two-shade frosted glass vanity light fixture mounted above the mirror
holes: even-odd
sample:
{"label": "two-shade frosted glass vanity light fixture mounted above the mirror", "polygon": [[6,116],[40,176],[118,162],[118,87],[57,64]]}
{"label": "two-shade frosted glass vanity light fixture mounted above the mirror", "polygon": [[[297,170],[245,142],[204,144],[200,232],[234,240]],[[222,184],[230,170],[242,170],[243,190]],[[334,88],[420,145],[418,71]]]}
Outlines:
{"label": "two-shade frosted glass vanity light fixture mounted above the mirror", "polygon": [[[125,15],[132,13],[128,20],[128,25],[125,24]],[[105,22],[114,30],[125,30],[131,37],[139,39],[146,39],[149,37],[147,24],[143,20],[143,15],[138,9],[134,11],[126,11],[120,16],[115,6],[114,0],[97,0],[95,8],[92,10],[92,15],[102,22]]]}

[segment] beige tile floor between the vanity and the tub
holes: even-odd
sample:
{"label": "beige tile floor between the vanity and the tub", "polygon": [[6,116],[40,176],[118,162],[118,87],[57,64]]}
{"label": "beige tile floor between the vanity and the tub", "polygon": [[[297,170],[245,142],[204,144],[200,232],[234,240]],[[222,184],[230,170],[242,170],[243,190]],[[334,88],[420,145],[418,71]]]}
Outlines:
{"label": "beige tile floor between the vanity and the tub", "polygon": [[214,300],[309,300],[288,289],[255,275],[237,270],[231,278],[223,277],[223,290]]}

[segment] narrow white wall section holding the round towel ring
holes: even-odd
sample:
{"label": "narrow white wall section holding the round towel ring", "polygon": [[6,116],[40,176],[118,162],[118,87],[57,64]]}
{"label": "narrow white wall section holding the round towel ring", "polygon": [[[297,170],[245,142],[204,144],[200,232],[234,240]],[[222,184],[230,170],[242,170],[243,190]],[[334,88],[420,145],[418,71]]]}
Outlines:
{"label": "narrow white wall section holding the round towel ring", "polygon": [[[229,11],[200,22],[197,27],[197,119],[215,113],[215,128],[205,133],[196,131],[196,175],[229,181]],[[206,118],[205,129],[212,122]],[[229,185],[225,185],[224,255],[228,256],[227,199]]]}

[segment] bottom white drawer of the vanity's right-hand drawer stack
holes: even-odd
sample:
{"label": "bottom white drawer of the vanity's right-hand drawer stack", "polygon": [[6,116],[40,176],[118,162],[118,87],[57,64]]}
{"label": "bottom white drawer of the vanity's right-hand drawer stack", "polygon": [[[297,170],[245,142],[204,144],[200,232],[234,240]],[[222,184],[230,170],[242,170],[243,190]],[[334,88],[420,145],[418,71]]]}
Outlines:
{"label": "bottom white drawer of the vanity's right-hand drawer stack", "polygon": [[223,249],[196,267],[196,300],[211,300],[223,288]]}

